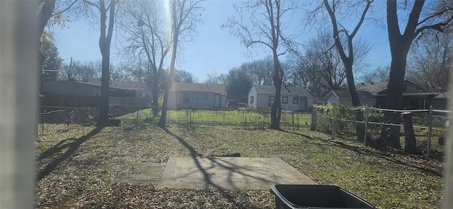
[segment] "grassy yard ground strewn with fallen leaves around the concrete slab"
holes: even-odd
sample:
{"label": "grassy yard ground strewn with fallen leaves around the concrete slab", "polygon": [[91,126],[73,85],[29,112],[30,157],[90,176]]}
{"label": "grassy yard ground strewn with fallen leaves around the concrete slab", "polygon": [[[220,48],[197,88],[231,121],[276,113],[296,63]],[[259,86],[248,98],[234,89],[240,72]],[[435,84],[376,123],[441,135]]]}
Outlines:
{"label": "grassy yard ground strewn with fallen leaves around the concrete slab", "polygon": [[442,163],[382,153],[303,128],[154,125],[46,126],[36,149],[36,208],[275,208],[270,191],[156,189],[115,181],[134,159],[289,154],[284,160],[318,184],[333,184],[378,208],[440,208]]}

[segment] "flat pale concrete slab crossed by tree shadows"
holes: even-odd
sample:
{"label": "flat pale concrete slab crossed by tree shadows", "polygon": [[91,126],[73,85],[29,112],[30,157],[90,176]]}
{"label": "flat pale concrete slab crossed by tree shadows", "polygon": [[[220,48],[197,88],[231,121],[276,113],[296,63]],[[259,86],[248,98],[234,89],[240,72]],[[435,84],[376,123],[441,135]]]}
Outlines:
{"label": "flat pale concrete slab crossed by tree shadows", "polygon": [[170,157],[158,188],[268,190],[316,184],[277,157]]}

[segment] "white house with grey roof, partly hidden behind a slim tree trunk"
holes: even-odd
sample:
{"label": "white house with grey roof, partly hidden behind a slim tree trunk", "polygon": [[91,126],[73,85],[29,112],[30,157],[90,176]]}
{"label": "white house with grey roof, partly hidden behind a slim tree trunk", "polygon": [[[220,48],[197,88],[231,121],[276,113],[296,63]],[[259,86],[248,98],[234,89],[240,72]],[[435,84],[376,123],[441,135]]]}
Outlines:
{"label": "white house with grey roof, partly hidden behind a slim tree trunk", "polygon": [[[280,90],[282,109],[308,111],[313,107],[313,97],[303,87],[282,86]],[[253,85],[248,91],[248,107],[251,109],[270,108],[275,100],[273,85]]]}

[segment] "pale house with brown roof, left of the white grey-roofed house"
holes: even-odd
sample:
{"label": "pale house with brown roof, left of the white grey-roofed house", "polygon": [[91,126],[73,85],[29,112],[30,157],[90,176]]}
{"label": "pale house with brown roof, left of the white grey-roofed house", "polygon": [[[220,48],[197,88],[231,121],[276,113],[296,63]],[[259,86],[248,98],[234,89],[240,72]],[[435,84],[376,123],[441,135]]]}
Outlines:
{"label": "pale house with brown roof, left of the white grey-roofed house", "polygon": [[210,109],[226,106],[224,84],[173,82],[168,109]]}

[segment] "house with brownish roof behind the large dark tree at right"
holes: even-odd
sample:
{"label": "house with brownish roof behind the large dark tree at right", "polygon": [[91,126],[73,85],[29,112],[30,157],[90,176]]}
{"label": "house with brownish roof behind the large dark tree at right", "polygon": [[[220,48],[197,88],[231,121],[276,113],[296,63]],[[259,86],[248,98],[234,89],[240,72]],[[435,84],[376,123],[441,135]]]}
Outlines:
{"label": "house with brownish roof behind the large dark tree at right", "polygon": [[[387,92],[388,82],[379,83],[362,83],[357,85],[355,89],[357,91],[368,91],[371,92],[374,97],[377,98],[376,107],[385,108],[385,98]],[[420,88],[410,80],[404,80],[403,89],[403,108],[405,109],[429,109],[430,100],[439,95],[435,92],[425,92],[423,88]]]}

